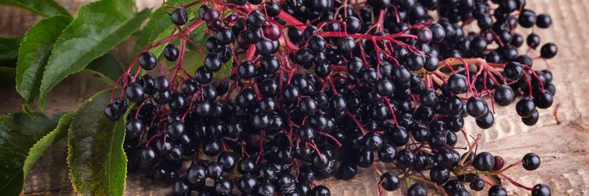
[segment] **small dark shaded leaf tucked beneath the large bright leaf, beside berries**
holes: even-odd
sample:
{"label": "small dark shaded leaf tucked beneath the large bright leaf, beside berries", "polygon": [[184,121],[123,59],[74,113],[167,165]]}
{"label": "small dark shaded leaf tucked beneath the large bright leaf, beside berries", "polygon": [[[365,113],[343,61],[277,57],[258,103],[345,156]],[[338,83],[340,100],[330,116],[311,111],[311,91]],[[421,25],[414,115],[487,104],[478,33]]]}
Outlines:
{"label": "small dark shaded leaf tucked beneath the large bright leaf, beside berries", "polygon": [[117,57],[110,53],[94,59],[86,69],[90,70],[92,74],[99,75],[102,79],[112,85],[114,85],[118,78],[125,72],[121,61],[118,61]]}

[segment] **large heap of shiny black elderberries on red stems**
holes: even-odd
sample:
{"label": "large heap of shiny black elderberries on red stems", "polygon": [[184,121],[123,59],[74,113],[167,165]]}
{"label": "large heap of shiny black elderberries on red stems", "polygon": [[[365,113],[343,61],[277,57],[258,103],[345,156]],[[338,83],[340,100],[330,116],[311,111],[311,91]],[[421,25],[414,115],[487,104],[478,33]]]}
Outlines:
{"label": "large heap of shiny black elderberries on red stems", "polygon": [[[198,17],[188,18],[196,5]],[[495,104],[518,96],[515,109],[526,125],[537,123],[537,108],[552,105],[552,74],[535,71],[532,60],[555,57],[557,46],[544,44],[530,57],[541,45],[532,33],[528,52],[519,54],[524,36],[515,32],[552,21],[525,0],[164,6],[173,9],[176,30],[137,55],[105,115],[117,120],[127,110],[124,97],[133,102],[124,145],[129,170],[172,184],[173,195],[325,196],[330,190],[317,180],[350,180],[370,167],[380,174],[379,195],[401,187],[411,196],[427,195],[426,187],[470,195],[486,186],[488,195],[507,195],[489,177],[551,195],[547,185],[527,187],[504,174],[537,169],[538,155],[505,164],[476,152],[481,136],[463,129],[468,116],[491,128]],[[210,36],[203,45],[191,38],[199,25]],[[466,32],[467,25],[478,31]],[[167,71],[150,53],[164,44],[164,58],[176,64]],[[194,66],[183,63],[187,45],[204,58],[194,74],[184,69]],[[227,62],[230,77],[213,81]],[[461,137],[466,148],[455,147]],[[381,172],[377,162],[393,169]]]}

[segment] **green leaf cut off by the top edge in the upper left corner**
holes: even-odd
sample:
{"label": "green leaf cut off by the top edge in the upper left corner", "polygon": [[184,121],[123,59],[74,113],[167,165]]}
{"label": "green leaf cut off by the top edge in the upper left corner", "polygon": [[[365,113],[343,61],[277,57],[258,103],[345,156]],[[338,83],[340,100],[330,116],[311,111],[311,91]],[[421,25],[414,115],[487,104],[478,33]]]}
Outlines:
{"label": "green leaf cut off by the top edge in the upper left corner", "polygon": [[28,9],[35,14],[43,16],[64,15],[71,18],[70,13],[53,0],[0,0],[0,5]]}

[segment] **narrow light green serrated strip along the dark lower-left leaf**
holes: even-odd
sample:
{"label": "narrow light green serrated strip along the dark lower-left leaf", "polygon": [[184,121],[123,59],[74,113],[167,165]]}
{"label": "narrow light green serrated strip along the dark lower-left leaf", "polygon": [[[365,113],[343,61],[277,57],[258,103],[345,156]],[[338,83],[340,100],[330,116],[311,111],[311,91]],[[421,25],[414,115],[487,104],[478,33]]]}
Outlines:
{"label": "narrow light green serrated strip along the dark lower-left leaf", "polygon": [[29,150],[29,155],[25,160],[24,168],[22,168],[22,171],[25,174],[25,178],[27,177],[29,171],[31,171],[31,168],[33,167],[35,162],[37,162],[37,160],[41,158],[41,155],[44,154],[45,150],[47,150],[47,148],[55,144],[55,142],[58,142],[60,139],[65,138],[65,136],[68,134],[68,128],[70,128],[70,123],[74,115],[75,113],[71,112],[59,118],[57,127],[53,131],[49,132],[49,134],[45,135],[45,137],[39,139],[39,141],[37,141],[37,143],[33,145],[31,150]]}

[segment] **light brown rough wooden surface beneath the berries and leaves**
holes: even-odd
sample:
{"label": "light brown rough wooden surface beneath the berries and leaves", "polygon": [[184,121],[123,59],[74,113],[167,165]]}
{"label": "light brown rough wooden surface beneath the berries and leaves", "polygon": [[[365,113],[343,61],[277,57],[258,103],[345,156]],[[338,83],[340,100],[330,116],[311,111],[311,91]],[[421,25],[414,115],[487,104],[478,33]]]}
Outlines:
{"label": "light brown rough wooden surface beneath the berries and leaves", "polygon": [[[75,10],[87,1],[58,2],[75,14]],[[161,1],[137,2],[140,8],[145,8],[157,6]],[[528,6],[538,14],[550,13],[554,20],[552,28],[536,31],[541,35],[542,43],[555,42],[560,50],[557,58],[550,60],[554,84],[557,86],[553,107],[543,109],[540,122],[533,127],[521,123],[515,114],[514,105],[497,109],[499,115],[495,116],[495,125],[491,129],[477,128],[471,118],[466,120],[465,127],[472,135],[484,135],[484,142],[479,149],[502,155],[507,162],[521,160],[527,152],[539,154],[542,165],[538,170],[530,172],[517,168],[507,172],[523,184],[548,184],[552,188],[552,195],[589,195],[589,27],[586,23],[589,5],[586,0],[530,0]],[[22,36],[38,19],[39,16],[27,11],[0,6],[0,35]],[[530,29],[518,31],[523,35],[531,32]],[[117,55],[124,62],[133,56],[125,52],[133,43],[130,40],[117,47]],[[532,52],[532,57],[536,55],[538,52]],[[535,61],[534,67],[544,67],[543,62]],[[71,111],[84,99],[104,88],[108,86],[97,79],[81,75],[70,77],[49,94],[47,111]],[[15,92],[14,84],[0,85],[0,94],[0,114],[21,109],[22,99]],[[557,112],[562,121],[560,125],[552,117],[555,105],[560,105]],[[50,148],[27,177],[23,195],[74,195],[68,180],[65,157],[64,141]],[[386,171],[386,165],[380,169]],[[329,185],[332,195],[378,195],[378,178],[373,170],[365,169],[352,181],[329,179],[320,184]],[[528,191],[512,185],[506,188],[509,195],[530,195]],[[141,174],[131,174],[125,195],[169,195],[169,192],[170,188],[153,184]],[[401,195],[401,192],[385,195]]]}

